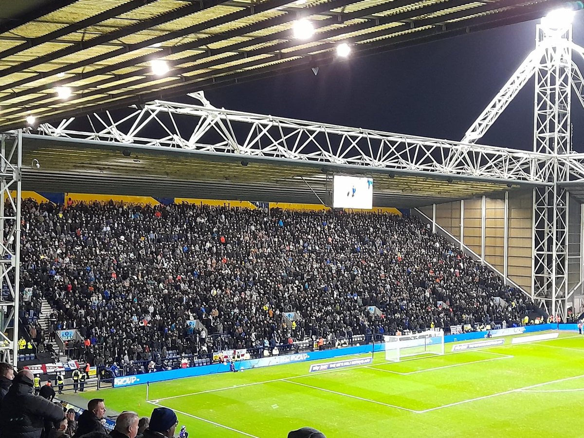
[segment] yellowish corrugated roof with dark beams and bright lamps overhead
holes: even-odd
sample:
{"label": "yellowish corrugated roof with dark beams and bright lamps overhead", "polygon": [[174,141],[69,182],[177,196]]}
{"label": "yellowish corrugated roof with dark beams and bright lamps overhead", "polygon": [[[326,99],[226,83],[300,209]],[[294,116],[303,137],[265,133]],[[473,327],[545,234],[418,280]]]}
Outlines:
{"label": "yellowish corrugated roof with dark beams and bright lamps overhead", "polygon": [[[27,0],[0,10],[0,130],[539,18],[558,0]],[[297,40],[298,18],[314,23]],[[154,59],[168,74],[151,72]],[[57,86],[73,95],[61,100]]]}

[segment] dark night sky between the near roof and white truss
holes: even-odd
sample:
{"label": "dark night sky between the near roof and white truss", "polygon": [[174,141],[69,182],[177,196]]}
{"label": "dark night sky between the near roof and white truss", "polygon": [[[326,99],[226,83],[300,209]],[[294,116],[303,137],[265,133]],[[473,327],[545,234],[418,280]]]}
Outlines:
{"label": "dark night sky between the near roof and white truss", "polygon": [[[460,140],[535,45],[536,22],[499,27],[206,92],[214,106]],[[584,12],[574,40],[584,45]],[[579,62],[580,69],[584,62]],[[480,141],[533,149],[530,81]],[[186,98],[185,102],[192,102]],[[578,104],[578,102],[574,102]],[[584,111],[572,113],[584,152]]]}

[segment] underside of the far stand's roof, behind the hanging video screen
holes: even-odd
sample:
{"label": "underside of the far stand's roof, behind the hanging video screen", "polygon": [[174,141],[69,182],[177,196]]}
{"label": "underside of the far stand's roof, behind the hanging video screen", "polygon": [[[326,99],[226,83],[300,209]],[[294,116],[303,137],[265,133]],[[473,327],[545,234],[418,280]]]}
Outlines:
{"label": "underside of the far stand's roof, behind the hanging video screen", "polygon": [[[40,168],[32,165],[35,159]],[[51,192],[312,204],[318,204],[320,198],[328,204],[333,173],[373,174],[376,207],[427,206],[528,187],[521,182],[507,185],[494,180],[23,135],[23,189],[37,192],[50,187]]]}

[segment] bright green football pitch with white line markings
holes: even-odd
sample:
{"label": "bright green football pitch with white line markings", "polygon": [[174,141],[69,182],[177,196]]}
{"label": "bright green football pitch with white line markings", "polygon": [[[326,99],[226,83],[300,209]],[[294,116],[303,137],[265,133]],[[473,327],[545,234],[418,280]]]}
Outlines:
{"label": "bright green football pitch with white line markings", "polygon": [[302,426],[328,438],[582,435],[584,336],[453,345],[444,356],[388,362],[380,352],[369,366],[315,373],[311,364],[340,359],[153,383],[148,402],[145,385],[83,396],[141,416],[166,406],[189,438],[286,437]]}

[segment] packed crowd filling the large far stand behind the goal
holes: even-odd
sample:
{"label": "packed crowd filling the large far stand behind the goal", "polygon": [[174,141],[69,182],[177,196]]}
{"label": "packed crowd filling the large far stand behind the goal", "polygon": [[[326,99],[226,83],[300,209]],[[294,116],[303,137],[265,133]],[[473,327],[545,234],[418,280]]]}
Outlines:
{"label": "packed crowd filling the large far stand behind the goal", "polygon": [[[72,354],[98,366],[321,336],[519,324],[529,306],[416,218],[192,204],[22,207],[22,285],[32,289],[24,305],[35,315],[44,296],[54,310],[49,333],[35,327],[34,335],[75,328],[84,341],[71,343]],[[293,327],[283,318],[291,311],[300,316]]]}

